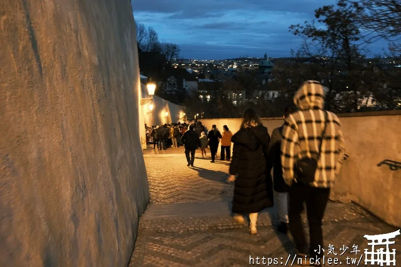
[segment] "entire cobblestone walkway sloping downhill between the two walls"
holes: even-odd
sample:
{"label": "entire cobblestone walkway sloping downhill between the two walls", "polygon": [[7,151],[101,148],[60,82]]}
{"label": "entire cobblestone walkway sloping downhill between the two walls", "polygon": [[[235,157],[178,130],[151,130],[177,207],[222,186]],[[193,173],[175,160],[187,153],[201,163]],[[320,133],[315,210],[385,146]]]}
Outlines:
{"label": "entire cobblestone walkway sloping downhill between the two walls", "polygon": [[[295,255],[292,238],[275,231],[275,208],[259,214],[256,235],[249,234],[247,224],[233,221],[233,185],[225,183],[227,164],[196,159],[195,168],[190,168],[183,154],[171,152],[144,157],[151,204],[141,216],[129,266],[249,266],[257,265],[256,261],[250,264],[250,257],[256,260],[257,256],[277,258],[276,265],[286,265],[289,258],[287,265],[291,265]],[[167,171],[163,171],[165,166]],[[303,219],[307,225],[305,214]],[[363,235],[395,230],[356,204],[331,202],[323,219],[325,265],[330,265],[328,257],[337,257],[341,265],[358,265],[359,259],[364,265],[363,251],[369,246]],[[397,250],[396,260],[401,262],[401,238],[394,240],[391,248]],[[334,245],[337,255],[327,254],[329,245]],[[343,245],[348,247],[345,252],[340,251]],[[356,254],[351,253],[353,245],[360,250]],[[292,265],[297,263],[301,263],[299,258]]]}

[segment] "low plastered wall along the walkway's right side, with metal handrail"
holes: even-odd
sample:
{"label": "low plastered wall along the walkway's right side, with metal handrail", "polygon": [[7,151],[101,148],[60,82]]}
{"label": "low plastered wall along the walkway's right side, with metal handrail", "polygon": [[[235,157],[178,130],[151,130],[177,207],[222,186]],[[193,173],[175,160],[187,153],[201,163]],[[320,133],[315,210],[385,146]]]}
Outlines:
{"label": "low plastered wall along the walkway's right side, with metal handrail", "polygon": [[[331,199],[355,201],[385,222],[401,227],[401,111],[339,114],[338,117],[349,158],[344,161],[332,188]],[[228,125],[233,133],[241,125],[240,119],[202,122],[209,129],[213,124],[220,130]],[[264,118],[263,123],[271,134],[283,120]]]}

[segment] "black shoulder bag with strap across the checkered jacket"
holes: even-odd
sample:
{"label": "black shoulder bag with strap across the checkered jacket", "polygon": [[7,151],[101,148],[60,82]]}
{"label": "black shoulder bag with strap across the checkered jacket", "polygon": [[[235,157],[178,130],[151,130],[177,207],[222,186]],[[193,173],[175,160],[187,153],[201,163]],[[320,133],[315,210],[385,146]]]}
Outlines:
{"label": "black shoulder bag with strap across the checkered jacket", "polygon": [[317,162],[320,159],[320,151],[322,149],[324,132],[326,131],[327,125],[327,111],[324,111],[324,128],[322,132],[322,140],[320,141],[320,146],[318,150],[317,160],[314,158],[303,158],[298,160],[294,166],[295,177],[297,178],[298,183],[311,183],[315,180],[315,173],[317,169]]}

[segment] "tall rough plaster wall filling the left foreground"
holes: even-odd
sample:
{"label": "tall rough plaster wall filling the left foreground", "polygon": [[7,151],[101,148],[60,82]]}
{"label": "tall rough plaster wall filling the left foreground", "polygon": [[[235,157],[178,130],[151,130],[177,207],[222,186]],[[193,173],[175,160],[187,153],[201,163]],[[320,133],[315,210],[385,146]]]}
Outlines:
{"label": "tall rough plaster wall filling the left foreground", "polygon": [[0,266],[126,266],[149,199],[129,1],[1,1],[0,47]]}

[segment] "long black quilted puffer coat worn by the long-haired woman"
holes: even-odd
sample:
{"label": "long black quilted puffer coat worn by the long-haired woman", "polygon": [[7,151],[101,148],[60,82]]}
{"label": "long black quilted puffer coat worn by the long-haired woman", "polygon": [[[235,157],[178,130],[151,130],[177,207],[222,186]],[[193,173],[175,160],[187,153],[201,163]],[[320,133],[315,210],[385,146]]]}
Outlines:
{"label": "long black quilted puffer coat worn by the long-haired woman", "polygon": [[270,136],[259,125],[243,128],[231,139],[234,143],[230,174],[235,180],[233,213],[254,213],[273,206],[273,182],[266,175]]}

